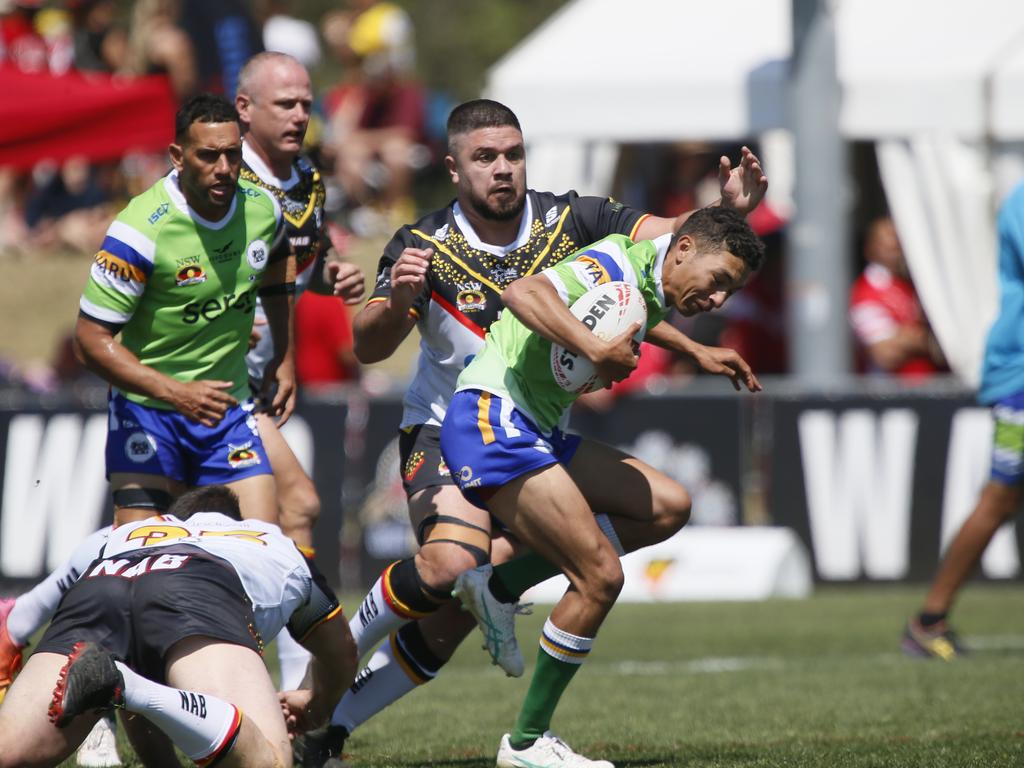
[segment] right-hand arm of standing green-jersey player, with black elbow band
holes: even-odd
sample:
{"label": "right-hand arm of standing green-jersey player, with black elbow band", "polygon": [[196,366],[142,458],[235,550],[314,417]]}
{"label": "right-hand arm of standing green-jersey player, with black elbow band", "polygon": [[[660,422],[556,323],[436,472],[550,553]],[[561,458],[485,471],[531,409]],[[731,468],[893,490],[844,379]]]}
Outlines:
{"label": "right-hand arm of standing green-jersey player, with black elbow band", "polygon": [[295,410],[295,254],[272,258],[263,275],[260,301],[273,340],[274,359],[263,375],[264,392],[276,384],[269,413],[284,424]]}

